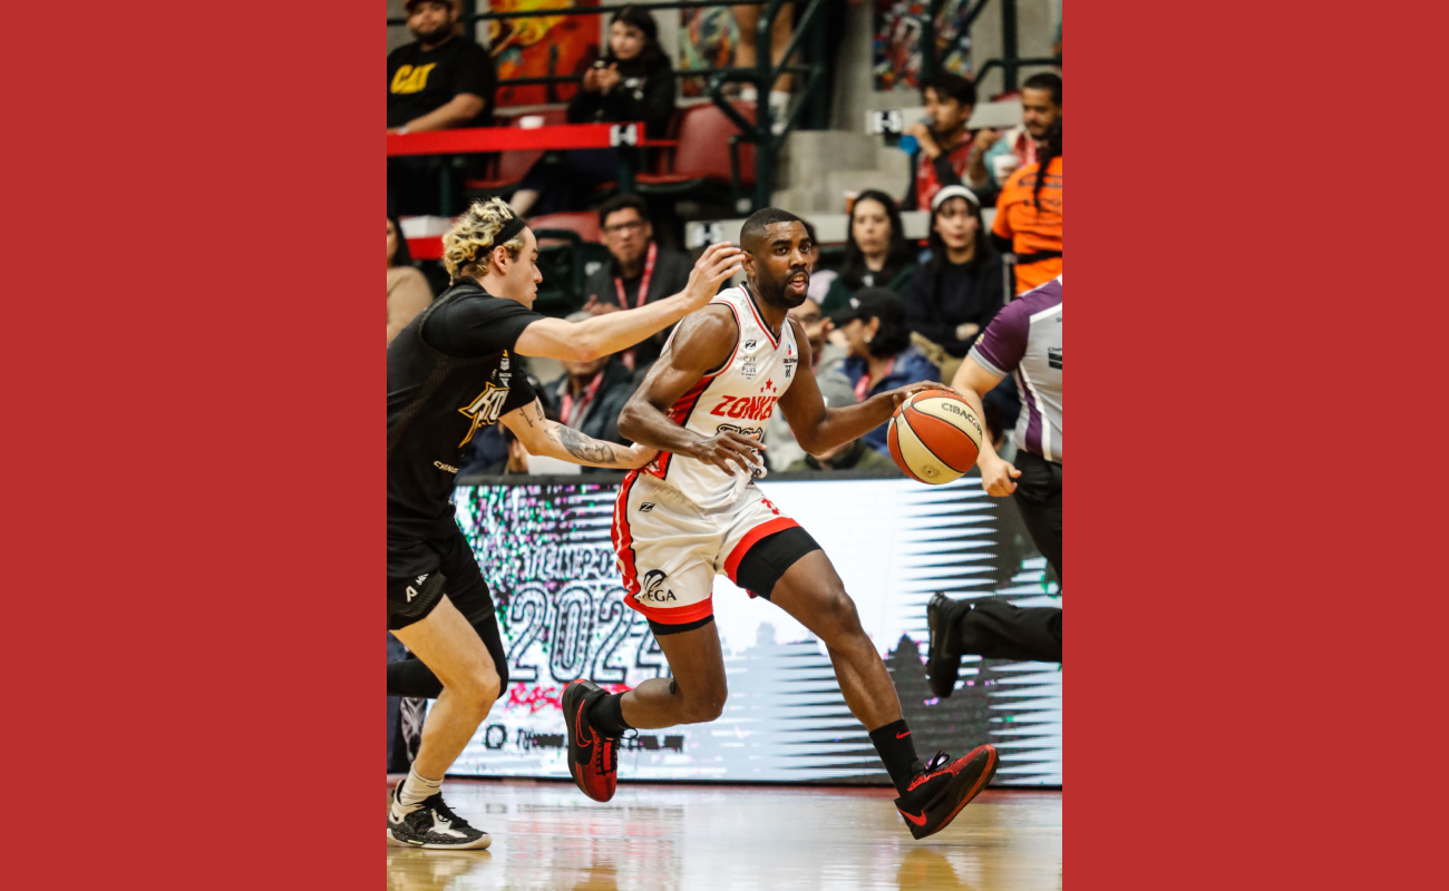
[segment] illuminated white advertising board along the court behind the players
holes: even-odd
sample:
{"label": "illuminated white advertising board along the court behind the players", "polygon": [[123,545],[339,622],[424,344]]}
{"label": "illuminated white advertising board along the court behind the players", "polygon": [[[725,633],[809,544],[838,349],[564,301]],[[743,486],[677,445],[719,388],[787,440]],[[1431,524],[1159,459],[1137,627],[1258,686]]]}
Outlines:
{"label": "illuminated white advertising board along the court behind the players", "polygon": [[[1061,606],[1014,504],[988,497],[975,477],[940,487],[767,480],[762,488],[840,574],[922,759],[990,742],[1001,750],[997,785],[1062,782],[1059,664],[966,656],[949,698],[926,685],[935,591]],[[587,677],[622,691],[669,675],[648,623],[623,600],[609,535],[617,490],[587,481],[456,490],[459,524],[497,604],[510,684],[452,774],[568,778],[565,684]],[[888,784],[814,635],[724,577],[714,581],[714,617],[729,679],[724,713],[625,740],[622,779]]]}

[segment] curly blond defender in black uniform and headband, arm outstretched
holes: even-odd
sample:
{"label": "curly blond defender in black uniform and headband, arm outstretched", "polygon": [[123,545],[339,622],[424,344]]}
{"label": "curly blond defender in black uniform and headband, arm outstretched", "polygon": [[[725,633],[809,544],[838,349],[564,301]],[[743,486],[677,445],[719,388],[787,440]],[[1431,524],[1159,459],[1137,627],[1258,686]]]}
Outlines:
{"label": "curly blond defender in black uniform and headband, arm outstretched", "polygon": [[542,275],[533,233],[501,200],[474,204],[443,238],[454,285],[387,348],[387,627],[413,658],[387,666],[387,694],[436,698],[387,832],[419,848],[487,848],[448,810],[442,777],[507,685],[493,598],[449,497],[462,448],[504,423],[535,455],[636,468],[653,449],[598,442],[543,417],[519,356],[593,359],[703,307],[739,271],[714,245],[684,291],[574,325],[532,310]]}

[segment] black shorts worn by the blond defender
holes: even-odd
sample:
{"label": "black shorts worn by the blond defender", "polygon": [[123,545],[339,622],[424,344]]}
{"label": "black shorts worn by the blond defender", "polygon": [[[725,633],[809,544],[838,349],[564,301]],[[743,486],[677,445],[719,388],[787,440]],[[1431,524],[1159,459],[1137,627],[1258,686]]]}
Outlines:
{"label": "black shorts worn by the blond defender", "polygon": [[496,620],[488,582],[461,529],[435,540],[387,539],[387,630],[426,617],[446,594],[468,624]]}

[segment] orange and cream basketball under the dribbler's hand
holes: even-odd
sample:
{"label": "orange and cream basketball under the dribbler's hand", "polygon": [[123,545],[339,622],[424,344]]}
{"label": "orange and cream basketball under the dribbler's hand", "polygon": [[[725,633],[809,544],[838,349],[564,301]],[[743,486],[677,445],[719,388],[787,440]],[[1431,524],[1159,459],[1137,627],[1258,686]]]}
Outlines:
{"label": "orange and cream basketball under the dribbler's hand", "polygon": [[887,442],[895,467],[907,477],[942,485],[975,467],[981,436],[981,420],[964,398],[923,390],[895,410]]}

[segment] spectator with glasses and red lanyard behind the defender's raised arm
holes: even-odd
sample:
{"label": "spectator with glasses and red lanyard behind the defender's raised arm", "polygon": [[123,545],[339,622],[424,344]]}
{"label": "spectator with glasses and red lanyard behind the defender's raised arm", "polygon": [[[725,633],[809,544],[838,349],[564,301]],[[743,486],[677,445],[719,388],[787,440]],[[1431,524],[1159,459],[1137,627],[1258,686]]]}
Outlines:
{"label": "spectator with glasses and red lanyard behind the defender's raised arm", "polygon": [[[584,284],[585,311],[597,316],[635,309],[684,290],[694,261],[653,240],[653,223],[643,198],[633,194],[609,198],[598,209],[598,226],[611,259]],[[665,329],[635,346],[626,364],[642,369],[658,359],[671,330]]]}

